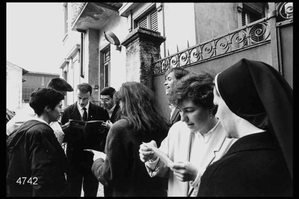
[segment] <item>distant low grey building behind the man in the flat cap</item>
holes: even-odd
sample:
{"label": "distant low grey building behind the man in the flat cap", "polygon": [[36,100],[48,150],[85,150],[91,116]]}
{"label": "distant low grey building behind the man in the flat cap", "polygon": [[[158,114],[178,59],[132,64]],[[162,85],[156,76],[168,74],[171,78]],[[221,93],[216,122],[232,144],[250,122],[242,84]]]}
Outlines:
{"label": "distant low grey building behind the man in the flat cap", "polygon": [[22,88],[22,102],[29,103],[30,94],[39,87],[46,87],[53,78],[59,78],[59,74],[28,72],[23,76],[26,80]]}

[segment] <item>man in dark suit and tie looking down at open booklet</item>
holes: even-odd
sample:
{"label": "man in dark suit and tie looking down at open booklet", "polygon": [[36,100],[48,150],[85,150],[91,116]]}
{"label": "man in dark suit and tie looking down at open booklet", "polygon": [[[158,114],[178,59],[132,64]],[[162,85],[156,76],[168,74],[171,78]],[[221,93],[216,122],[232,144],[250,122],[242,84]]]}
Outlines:
{"label": "man in dark suit and tie looking down at open booklet", "polygon": [[78,129],[69,126],[69,119],[103,120],[109,119],[108,112],[99,105],[89,102],[92,87],[87,83],[77,86],[77,101],[66,107],[61,118],[62,128],[67,142],[66,155],[70,163],[70,173],[67,180],[71,196],[80,197],[83,180],[84,197],[96,197],[99,181],[91,173],[93,154],[84,149],[104,151],[107,137],[105,127],[90,127]]}

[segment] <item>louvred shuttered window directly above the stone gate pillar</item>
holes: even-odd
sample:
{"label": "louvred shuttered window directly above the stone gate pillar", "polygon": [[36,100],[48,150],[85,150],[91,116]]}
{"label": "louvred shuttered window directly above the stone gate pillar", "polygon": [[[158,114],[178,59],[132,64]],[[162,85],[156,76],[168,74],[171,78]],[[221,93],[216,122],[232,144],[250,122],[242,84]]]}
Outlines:
{"label": "louvred shuttered window directly above the stone gate pillar", "polygon": [[153,9],[146,16],[137,21],[137,26],[147,28],[153,31],[158,31],[158,14],[157,10]]}

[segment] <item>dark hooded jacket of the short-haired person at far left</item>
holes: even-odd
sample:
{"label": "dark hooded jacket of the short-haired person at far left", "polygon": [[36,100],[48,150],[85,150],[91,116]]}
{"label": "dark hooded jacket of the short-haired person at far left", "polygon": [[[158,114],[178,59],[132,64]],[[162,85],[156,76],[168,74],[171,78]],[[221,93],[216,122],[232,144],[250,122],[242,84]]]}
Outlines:
{"label": "dark hooded jacket of the short-haired person at far left", "polygon": [[[29,120],[9,135],[6,146],[9,157],[6,182],[10,196],[67,194],[64,173],[67,172],[68,162],[49,125]],[[19,178],[21,184],[17,183]]]}

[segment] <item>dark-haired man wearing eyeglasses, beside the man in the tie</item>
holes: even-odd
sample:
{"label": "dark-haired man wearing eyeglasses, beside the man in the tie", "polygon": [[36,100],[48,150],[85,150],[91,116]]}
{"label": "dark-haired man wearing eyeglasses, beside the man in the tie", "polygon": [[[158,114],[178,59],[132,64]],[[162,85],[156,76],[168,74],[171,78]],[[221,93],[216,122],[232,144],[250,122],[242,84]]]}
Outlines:
{"label": "dark-haired man wearing eyeglasses, beside the man in the tie", "polygon": [[112,87],[105,87],[101,90],[101,105],[107,110],[110,120],[106,121],[106,128],[110,129],[112,124],[116,122],[118,117],[119,105],[113,102],[113,94],[115,89]]}

